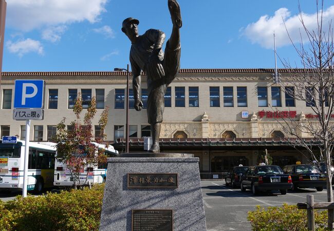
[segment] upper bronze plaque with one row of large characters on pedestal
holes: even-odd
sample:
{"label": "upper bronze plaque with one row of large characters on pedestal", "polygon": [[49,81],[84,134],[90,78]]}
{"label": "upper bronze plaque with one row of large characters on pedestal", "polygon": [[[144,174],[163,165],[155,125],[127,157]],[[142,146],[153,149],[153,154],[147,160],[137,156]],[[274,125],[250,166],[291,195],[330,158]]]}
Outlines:
{"label": "upper bronze plaque with one row of large characters on pedestal", "polygon": [[177,188],[177,173],[131,173],[127,174],[128,188]]}

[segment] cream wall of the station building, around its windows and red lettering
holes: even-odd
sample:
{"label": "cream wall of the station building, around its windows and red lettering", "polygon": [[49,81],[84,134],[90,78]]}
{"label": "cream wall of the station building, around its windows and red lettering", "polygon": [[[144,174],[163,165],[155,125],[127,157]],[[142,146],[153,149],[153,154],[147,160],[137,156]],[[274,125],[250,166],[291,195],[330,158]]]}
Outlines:
{"label": "cream wall of the station building, around its windows and red lettering", "polygon": [[[29,73],[29,72],[27,72]],[[51,72],[52,73],[52,72]],[[57,73],[57,72],[56,72]],[[112,72],[113,73],[113,72]],[[115,72],[114,72],[115,73]],[[115,89],[126,87],[126,75],[52,75],[46,73],[37,76],[15,76],[15,73],[4,74],[1,83],[0,102],[2,103],[3,89],[13,89],[15,79],[42,79],[45,80],[45,99],[44,99],[44,120],[32,121],[30,137],[33,138],[33,126],[43,125],[43,140],[46,140],[47,125],[57,125],[63,117],[66,123],[75,119],[72,109],[67,107],[68,89],[92,89],[92,96],[95,89],[105,90],[105,106],[109,107],[108,125],[106,129],[107,140],[114,140],[114,125],[125,125],[125,109],[115,109]],[[132,85],[132,84],[131,84]],[[250,121],[250,118],[243,119],[242,111],[248,111],[249,115],[254,111],[273,111],[269,106],[271,103],[271,87],[280,86],[272,82],[271,73],[180,73],[178,78],[170,85],[172,89],[172,107],[165,107],[164,120],[160,138],[173,138],[176,131],[182,130],[188,134],[189,138],[221,138],[221,134],[227,130],[233,131],[237,138],[250,137],[270,137],[273,130],[282,130],[275,119],[266,117],[259,118],[258,121]],[[199,107],[189,107],[189,87],[199,88]],[[220,95],[220,107],[210,107],[210,87],[218,86]],[[224,86],[233,87],[234,107],[224,107],[222,88]],[[236,87],[247,87],[247,107],[237,106]],[[268,89],[268,107],[258,107],[257,87],[266,86]],[[147,88],[145,76],[142,77],[142,87]],[[175,87],[185,87],[185,107],[175,107]],[[58,109],[48,109],[48,90],[58,89]],[[295,102],[295,107],[285,107],[284,89],[281,88],[282,107],[281,111],[294,110],[299,114],[311,113],[310,108],[306,107],[305,102]],[[12,96],[13,105],[13,96]],[[93,124],[98,124],[98,116],[102,109],[98,109]],[[209,121],[202,122],[203,113],[207,113]],[[20,126],[25,125],[25,121],[14,121],[12,119],[13,107],[11,109],[1,109],[1,125],[10,125],[10,135],[21,135]],[[141,125],[147,125],[146,109],[136,111],[129,110],[129,124],[137,125],[138,136],[140,136]],[[125,132],[124,132],[125,133]]]}

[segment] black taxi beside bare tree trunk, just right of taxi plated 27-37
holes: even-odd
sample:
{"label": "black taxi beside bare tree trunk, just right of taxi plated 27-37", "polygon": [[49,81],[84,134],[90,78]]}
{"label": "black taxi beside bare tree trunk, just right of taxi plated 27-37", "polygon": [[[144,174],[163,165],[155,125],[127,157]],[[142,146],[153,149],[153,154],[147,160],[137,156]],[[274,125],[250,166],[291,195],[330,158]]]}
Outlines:
{"label": "black taxi beside bare tree trunk, just right of taxi plated 27-37", "polygon": [[291,176],[292,190],[316,187],[317,191],[322,191],[326,186],[326,175],[312,164],[286,165],[283,171]]}

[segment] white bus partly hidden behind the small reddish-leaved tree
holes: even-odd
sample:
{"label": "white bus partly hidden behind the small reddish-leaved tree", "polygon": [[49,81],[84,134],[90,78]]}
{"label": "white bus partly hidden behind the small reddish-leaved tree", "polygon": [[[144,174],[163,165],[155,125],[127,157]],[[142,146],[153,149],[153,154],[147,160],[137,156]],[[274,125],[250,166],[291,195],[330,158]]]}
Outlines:
{"label": "white bus partly hidden behind the small reddish-leaved tree", "polygon": [[[105,149],[105,154],[107,157],[117,157],[118,151],[114,149],[112,145],[98,144],[92,142],[99,148]],[[88,171],[89,170],[89,171]],[[88,173],[88,176],[87,176]],[[80,171],[79,179],[76,179],[75,175],[71,175],[70,170],[66,167],[65,163],[62,163],[55,159],[55,168],[54,168],[54,186],[60,188],[71,187],[74,184],[74,181],[77,181],[77,185],[88,185],[89,182],[91,185],[99,184],[105,181],[107,175],[107,163],[101,164],[99,166],[84,166]],[[87,178],[87,181],[86,181]],[[86,184],[85,184],[86,182]]]}

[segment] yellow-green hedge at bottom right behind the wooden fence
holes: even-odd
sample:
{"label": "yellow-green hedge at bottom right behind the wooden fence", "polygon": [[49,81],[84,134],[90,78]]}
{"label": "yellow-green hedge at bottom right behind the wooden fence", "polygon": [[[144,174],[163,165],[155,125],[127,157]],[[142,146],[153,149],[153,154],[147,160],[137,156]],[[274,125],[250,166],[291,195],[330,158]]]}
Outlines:
{"label": "yellow-green hedge at bottom right behind the wooden fence", "polygon": [[[316,230],[328,230],[327,210],[315,210]],[[307,230],[306,209],[296,205],[283,204],[282,207],[269,206],[267,209],[257,205],[247,216],[253,230]]]}

